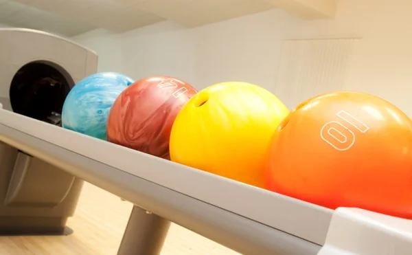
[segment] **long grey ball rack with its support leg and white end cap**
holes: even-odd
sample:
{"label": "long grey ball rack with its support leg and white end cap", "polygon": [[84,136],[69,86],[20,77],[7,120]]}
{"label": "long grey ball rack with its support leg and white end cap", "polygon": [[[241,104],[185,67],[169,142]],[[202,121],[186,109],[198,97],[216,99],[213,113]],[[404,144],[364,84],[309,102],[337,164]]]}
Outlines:
{"label": "long grey ball rack with its support leg and white end cap", "polygon": [[0,107],[0,153],[5,147],[27,155],[15,166],[35,158],[133,203],[119,255],[160,254],[170,222],[247,255],[412,253],[411,221],[329,210]]}

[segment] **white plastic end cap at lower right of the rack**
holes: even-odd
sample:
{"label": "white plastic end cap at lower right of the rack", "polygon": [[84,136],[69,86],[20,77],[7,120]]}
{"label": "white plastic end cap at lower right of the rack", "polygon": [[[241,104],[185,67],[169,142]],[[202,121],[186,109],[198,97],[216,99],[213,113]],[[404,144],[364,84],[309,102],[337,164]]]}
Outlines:
{"label": "white plastic end cap at lower right of the rack", "polygon": [[338,208],[318,255],[412,253],[412,221],[357,208]]}

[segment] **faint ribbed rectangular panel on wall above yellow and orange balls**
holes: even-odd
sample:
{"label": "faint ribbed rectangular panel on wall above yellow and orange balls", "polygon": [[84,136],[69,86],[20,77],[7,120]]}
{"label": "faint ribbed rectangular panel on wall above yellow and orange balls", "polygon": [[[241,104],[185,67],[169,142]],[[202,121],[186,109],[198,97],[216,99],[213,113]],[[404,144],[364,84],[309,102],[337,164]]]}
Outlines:
{"label": "faint ribbed rectangular panel on wall above yellow and orange balls", "polygon": [[320,93],[345,90],[358,38],[286,40],[276,95],[289,109]]}

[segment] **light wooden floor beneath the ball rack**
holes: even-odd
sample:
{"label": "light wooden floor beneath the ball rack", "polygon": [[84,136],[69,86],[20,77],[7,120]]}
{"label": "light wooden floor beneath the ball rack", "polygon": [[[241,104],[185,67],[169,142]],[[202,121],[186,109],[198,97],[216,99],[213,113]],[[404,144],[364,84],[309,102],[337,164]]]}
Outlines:
{"label": "light wooden floor beneath the ball rack", "polygon": [[[115,255],[132,205],[85,184],[69,236],[0,237],[0,255]],[[222,245],[179,225],[170,227],[162,255],[234,255]]]}

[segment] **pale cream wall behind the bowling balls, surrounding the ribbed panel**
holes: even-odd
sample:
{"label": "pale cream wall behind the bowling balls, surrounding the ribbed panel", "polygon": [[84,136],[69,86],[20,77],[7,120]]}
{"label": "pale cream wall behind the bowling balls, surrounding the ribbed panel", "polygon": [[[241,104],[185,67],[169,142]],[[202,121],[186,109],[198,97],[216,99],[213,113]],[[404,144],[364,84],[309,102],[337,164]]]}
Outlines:
{"label": "pale cream wall behind the bowling balls, surrounding the ribbed panel", "polygon": [[344,89],[382,96],[412,115],[411,11],[409,0],[344,0],[330,21],[302,21],[272,10],[192,30],[163,22],[75,39],[98,52],[100,70],[133,78],[167,74],[198,89],[243,80],[275,92],[288,86],[277,85],[284,39],[357,37]]}

